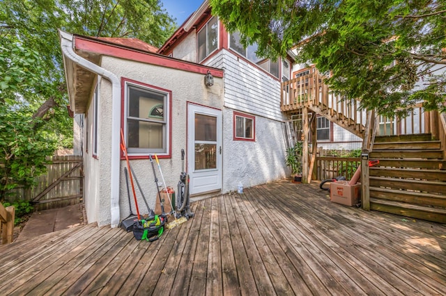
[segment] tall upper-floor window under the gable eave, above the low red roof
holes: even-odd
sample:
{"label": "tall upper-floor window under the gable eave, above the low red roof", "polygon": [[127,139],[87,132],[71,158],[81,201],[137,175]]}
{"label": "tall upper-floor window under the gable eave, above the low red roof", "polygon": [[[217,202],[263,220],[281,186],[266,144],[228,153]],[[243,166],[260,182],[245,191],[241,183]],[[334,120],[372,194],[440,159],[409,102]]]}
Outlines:
{"label": "tall upper-floor window under the gable eave, above the low red roof", "polygon": [[198,60],[201,62],[218,48],[218,22],[213,17],[198,33]]}

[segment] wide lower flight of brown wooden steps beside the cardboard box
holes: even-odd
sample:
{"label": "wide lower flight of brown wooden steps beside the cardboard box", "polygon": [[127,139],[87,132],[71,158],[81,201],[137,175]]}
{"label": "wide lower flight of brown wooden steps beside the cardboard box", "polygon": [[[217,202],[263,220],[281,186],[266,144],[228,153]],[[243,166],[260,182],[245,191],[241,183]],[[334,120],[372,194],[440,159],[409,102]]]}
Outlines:
{"label": "wide lower flight of brown wooden steps beside the cardboard box", "polygon": [[375,138],[369,169],[370,209],[446,223],[446,161],[430,133]]}

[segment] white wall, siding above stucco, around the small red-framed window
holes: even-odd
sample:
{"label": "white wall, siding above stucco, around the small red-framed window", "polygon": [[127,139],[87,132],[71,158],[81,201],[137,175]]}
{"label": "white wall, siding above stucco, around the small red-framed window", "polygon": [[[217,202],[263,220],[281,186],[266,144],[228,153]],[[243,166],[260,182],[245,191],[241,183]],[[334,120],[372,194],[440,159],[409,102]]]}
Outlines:
{"label": "white wall, siding above stucco, around the small red-framed window", "polygon": [[[206,65],[224,69],[222,191],[236,190],[239,181],[251,187],[285,178],[279,81],[226,49]],[[234,110],[256,116],[255,142],[233,140]]]}

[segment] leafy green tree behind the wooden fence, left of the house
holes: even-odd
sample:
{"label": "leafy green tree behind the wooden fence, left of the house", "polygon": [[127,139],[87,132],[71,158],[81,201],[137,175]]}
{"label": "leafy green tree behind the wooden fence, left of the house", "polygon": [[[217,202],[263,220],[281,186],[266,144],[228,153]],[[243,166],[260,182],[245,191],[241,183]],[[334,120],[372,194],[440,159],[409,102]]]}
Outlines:
{"label": "leafy green tree behind the wooden fence, left of the house", "polygon": [[58,28],[159,47],[174,20],[158,0],[0,1],[0,199],[31,186],[56,144],[72,145]]}

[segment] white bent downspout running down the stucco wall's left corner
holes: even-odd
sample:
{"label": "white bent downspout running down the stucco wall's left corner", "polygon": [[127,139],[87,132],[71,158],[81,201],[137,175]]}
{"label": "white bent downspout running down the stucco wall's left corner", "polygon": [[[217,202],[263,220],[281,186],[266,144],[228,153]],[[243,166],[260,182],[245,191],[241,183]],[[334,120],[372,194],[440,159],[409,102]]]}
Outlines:
{"label": "white bent downspout running down the stucco wall's left corner", "polygon": [[76,65],[84,67],[89,71],[98,74],[112,83],[112,153],[111,153],[111,172],[110,172],[110,192],[111,192],[111,226],[118,227],[120,220],[119,213],[119,167],[121,162],[120,143],[120,121],[116,120],[121,117],[121,83],[116,75],[112,72],[91,63],[91,61],[82,58],[75,53],[73,35],[59,30],[61,38],[62,53],[66,58],[70,59]]}

